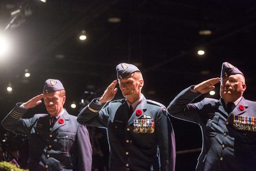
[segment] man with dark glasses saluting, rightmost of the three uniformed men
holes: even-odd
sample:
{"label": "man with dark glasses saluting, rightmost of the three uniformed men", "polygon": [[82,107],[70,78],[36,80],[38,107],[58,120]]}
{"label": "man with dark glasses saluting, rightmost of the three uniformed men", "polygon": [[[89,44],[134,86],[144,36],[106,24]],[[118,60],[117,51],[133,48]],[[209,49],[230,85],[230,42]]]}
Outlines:
{"label": "man with dark glasses saluting, rightmost of the three uniformed men", "polygon": [[[191,103],[221,81],[221,99]],[[198,123],[203,135],[196,170],[256,170],[256,102],[246,100],[244,74],[228,62],[221,78],[212,78],[183,90],[170,102],[168,112]]]}

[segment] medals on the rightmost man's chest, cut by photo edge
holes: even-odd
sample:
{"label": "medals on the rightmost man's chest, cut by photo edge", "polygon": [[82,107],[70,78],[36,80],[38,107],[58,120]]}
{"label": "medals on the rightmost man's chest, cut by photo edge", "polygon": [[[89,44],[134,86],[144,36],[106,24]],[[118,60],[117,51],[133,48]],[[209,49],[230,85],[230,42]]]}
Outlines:
{"label": "medals on the rightmost man's chest, cut by photo edge", "polygon": [[256,132],[256,118],[249,116],[234,116],[234,129]]}

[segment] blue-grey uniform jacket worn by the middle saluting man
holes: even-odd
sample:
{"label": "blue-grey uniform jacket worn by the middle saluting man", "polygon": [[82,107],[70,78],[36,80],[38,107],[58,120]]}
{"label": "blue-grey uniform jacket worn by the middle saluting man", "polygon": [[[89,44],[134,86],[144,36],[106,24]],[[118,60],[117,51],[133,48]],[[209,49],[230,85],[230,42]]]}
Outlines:
{"label": "blue-grey uniform jacket worn by the middle saluting man", "polygon": [[[146,100],[143,96],[131,118],[127,118],[129,106],[126,99],[110,102],[103,109],[103,105],[96,100],[80,112],[77,121],[80,124],[108,129],[111,171],[174,170],[175,140],[165,106]],[[140,116],[136,116],[137,110],[142,111]],[[133,132],[134,119],[144,115],[155,120],[154,133]]]}

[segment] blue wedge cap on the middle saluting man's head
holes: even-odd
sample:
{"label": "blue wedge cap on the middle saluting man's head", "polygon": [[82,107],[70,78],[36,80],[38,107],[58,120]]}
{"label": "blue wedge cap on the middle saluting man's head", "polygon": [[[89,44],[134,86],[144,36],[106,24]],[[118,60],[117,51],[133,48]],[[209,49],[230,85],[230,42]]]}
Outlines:
{"label": "blue wedge cap on the middle saluting man's head", "polygon": [[116,71],[117,71],[117,79],[123,79],[127,77],[129,74],[132,74],[136,71],[140,72],[140,70],[136,66],[129,63],[119,63],[116,66]]}

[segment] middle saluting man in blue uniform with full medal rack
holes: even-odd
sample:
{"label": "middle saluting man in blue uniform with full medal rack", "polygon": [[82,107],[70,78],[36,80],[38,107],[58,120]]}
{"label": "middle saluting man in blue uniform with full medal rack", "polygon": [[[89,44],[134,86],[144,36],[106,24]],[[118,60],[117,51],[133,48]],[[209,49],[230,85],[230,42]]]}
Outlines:
{"label": "middle saluting man in blue uniform with full medal rack", "polygon": [[102,97],[80,112],[77,121],[108,130],[110,171],[174,170],[174,132],[165,106],[141,94],[144,81],[136,66],[120,63],[116,70],[125,98],[104,106],[117,92],[114,80]]}

